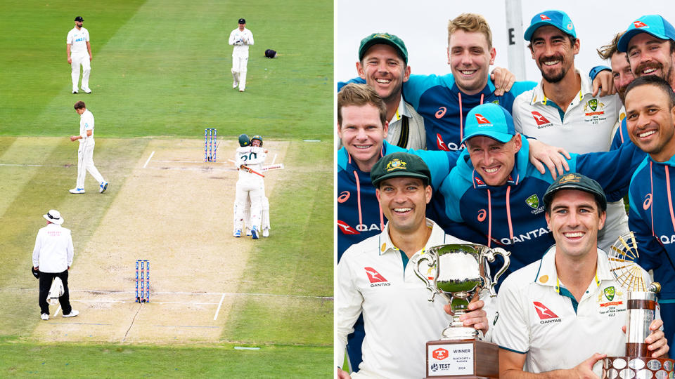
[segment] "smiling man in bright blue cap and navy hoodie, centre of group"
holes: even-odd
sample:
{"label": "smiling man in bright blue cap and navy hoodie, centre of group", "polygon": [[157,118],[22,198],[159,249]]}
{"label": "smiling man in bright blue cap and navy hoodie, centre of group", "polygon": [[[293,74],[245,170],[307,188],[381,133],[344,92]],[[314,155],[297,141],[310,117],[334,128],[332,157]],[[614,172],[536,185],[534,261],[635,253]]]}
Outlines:
{"label": "smiling man in bright blue cap and navy hoodie, centre of group", "polygon": [[[503,107],[489,103],[472,109],[466,133],[467,149],[439,188],[445,214],[479,231],[484,237],[477,242],[511,251],[509,268],[518,270],[553,244],[541,203],[553,179],[528,161],[532,142],[515,131]],[[643,157],[629,144],[612,152],[571,154],[567,164],[572,172],[596,178],[618,200]]]}

